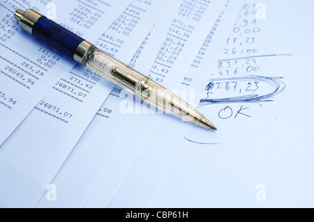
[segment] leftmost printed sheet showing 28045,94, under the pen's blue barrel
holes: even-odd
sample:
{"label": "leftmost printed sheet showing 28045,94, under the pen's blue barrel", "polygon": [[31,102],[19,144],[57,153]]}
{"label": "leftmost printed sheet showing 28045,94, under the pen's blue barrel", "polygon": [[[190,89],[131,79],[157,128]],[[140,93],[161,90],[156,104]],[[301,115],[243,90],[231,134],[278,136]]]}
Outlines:
{"label": "leftmost printed sheet showing 28045,94, under the pen's blue barrel", "polygon": [[[0,145],[57,80],[75,65],[57,50],[22,31],[13,17],[15,10],[36,10],[82,38],[94,42],[130,1],[121,3],[107,0],[96,3],[73,0],[66,6],[61,0],[1,1],[0,115],[3,118],[0,123],[6,127],[0,128]],[[65,118],[63,113],[57,115],[57,118]]]}

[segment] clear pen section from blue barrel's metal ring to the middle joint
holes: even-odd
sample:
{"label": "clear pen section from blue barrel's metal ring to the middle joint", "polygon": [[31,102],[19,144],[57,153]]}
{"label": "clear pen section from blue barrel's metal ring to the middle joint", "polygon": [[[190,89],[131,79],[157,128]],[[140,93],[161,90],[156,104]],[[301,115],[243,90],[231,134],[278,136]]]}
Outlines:
{"label": "clear pen section from blue barrel's metal ring to the middle joint", "polygon": [[90,58],[87,59],[86,66],[133,94],[135,94],[137,84],[145,77],[99,49],[94,49]]}

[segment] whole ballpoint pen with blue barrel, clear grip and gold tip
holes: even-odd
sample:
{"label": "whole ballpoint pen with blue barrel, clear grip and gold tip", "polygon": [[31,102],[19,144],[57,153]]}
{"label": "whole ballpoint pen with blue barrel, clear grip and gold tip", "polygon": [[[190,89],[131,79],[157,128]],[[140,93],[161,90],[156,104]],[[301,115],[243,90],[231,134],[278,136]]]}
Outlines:
{"label": "whole ballpoint pen with blue barrel, clear grip and gold tip", "polygon": [[22,29],[85,65],[114,84],[126,88],[158,109],[207,129],[215,129],[207,118],[160,84],[137,72],[91,43],[35,11],[17,9],[14,13]]}

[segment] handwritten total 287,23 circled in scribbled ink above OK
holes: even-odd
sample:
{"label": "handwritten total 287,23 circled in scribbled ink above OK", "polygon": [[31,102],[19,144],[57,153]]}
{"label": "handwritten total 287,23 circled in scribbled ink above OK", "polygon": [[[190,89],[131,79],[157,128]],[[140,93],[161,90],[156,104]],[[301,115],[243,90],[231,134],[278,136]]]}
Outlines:
{"label": "handwritten total 287,23 circled in scribbled ink above OK", "polygon": [[200,106],[243,102],[270,102],[285,89],[282,77],[231,77],[211,79],[207,84],[207,97]]}

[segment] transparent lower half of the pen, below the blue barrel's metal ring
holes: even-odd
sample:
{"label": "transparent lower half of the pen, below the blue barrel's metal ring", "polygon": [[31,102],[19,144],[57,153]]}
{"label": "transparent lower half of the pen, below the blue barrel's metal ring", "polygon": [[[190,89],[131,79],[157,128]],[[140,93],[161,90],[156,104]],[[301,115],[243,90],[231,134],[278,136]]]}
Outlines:
{"label": "transparent lower half of the pen, below the blue barrel's metal ring", "polygon": [[99,49],[94,49],[91,52],[86,66],[114,84],[137,95],[145,102],[156,106],[162,111],[172,113],[182,120],[197,124],[197,121],[203,117],[202,114],[170,90]]}

